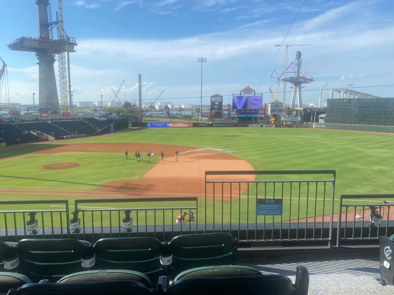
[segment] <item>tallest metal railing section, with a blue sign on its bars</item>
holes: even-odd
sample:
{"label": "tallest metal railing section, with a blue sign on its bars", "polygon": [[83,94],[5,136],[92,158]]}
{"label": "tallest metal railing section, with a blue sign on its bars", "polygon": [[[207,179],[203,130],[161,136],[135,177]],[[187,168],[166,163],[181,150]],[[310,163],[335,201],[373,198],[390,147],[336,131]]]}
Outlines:
{"label": "tallest metal railing section, with a blue sign on its bars", "polygon": [[[229,180],[232,175],[244,180]],[[288,179],[270,179],[273,175]],[[331,243],[334,192],[335,170],[206,171],[204,232],[226,231],[247,241]],[[261,199],[281,200],[281,214],[258,215]]]}

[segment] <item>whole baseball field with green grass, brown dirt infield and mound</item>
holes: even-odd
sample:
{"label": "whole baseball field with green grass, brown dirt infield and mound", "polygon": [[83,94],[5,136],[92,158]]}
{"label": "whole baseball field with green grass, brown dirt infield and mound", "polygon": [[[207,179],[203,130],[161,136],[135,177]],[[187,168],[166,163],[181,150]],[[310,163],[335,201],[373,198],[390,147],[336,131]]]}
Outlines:
{"label": "whole baseball field with green grass, brown dirt infield and mound", "polygon": [[[336,199],[341,194],[390,194],[394,179],[393,143],[392,134],[320,129],[128,129],[104,136],[0,149],[0,194],[3,200],[69,199],[70,204],[80,198],[197,196],[201,213],[200,208],[203,210],[205,205],[204,173],[207,170],[336,170]],[[129,159],[125,159],[126,149]],[[175,161],[176,150],[178,161]],[[135,151],[141,154],[140,162],[134,159]],[[148,151],[152,154],[150,162]],[[160,158],[162,151],[164,161]],[[243,175],[236,179],[269,177]],[[242,216],[247,210],[255,210],[242,198],[246,188],[246,184],[242,186],[240,200],[238,194],[232,196],[237,199],[232,209],[234,212],[239,209]],[[249,189],[256,190],[253,186]],[[258,196],[263,195],[263,191],[264,188],[259,187]],[[284,202],[289,199],[289,193],[284,192],[287,196]],[[214,202],[221,208],[222,201],[213,200],[210,195],[207,192],[207,208]],[[314,206],[314,203],[301,200],[299,212],[304,212],[307,205]],[[96,203],[95,206],[115,205]],[[225,194],[223,210],[227,212],[229,206],[230,196]],[[322,210],[319,206],[318,212]],[[325,208],[326,214],[328,208]],[[17,208],[2,208],[7,209]],[[301,213],[299,217],[306,215]],[[283,220],[296,217],[293,213],[282,216]],[[171,223],[171,217],[168,218]],[[211,213],[207,214],[208,218],[212,218]],[[229,218],[228,214],[225,221]]]}

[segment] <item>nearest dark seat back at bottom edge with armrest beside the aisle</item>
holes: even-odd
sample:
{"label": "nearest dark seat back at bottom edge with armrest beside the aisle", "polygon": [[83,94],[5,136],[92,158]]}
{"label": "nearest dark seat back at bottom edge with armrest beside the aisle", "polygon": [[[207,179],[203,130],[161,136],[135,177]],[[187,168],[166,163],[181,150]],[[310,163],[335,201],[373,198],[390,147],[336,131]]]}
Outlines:
{"label": "nearest dark seat back at bottom edge with armrest beside the aisle", "polygon": [[[207,270],[208,273],[212,269]],[[234,270],[233,270],[234,271]],[[197,269],[201,272],[201,269]],[[226,294],[226,295],[307,295],[309,275],[305,267],[297,267],[296,284],[283,275],[243,275],[248,273],[240,269],[240,275],[233,277],[196,277],[179,278],[164,294]],[[192,271],[189,273],[192,274]]]}

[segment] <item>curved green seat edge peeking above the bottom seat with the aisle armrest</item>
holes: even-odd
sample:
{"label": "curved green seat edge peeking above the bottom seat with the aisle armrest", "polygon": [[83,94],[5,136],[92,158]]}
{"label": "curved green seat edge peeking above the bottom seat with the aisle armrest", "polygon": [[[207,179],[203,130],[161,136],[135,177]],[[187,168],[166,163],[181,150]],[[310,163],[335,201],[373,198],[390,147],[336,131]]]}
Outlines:
{"label": "curved green seat edge peeking above the bottom seat with the aisle armrest", "polygon": [[204,266],[182,271],[174,279],[180,278],[217,278],[217,277],[245,277],[263,275],[258,269],[243,265]]}

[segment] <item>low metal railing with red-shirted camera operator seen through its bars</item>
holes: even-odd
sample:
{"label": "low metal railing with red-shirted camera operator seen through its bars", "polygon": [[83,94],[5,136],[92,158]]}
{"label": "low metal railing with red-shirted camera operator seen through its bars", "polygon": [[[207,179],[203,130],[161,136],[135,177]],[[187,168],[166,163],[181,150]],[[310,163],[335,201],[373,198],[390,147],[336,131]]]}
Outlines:
{"label": "low metal railing with red-shirted camera operator seen through its bars", "polygon": [[[78,230],[72,233],[78,238],[82,235],[84,240],[91,237],[88,238],[91,242],[96,238],[128,236],[154,236],[164,242],[178,232],[197,232],[197,201],[197,197],[76,199],[72,220],[80,219],[80,223]],[[152,204],[139,207],[138,203]],[[84,206],[86,204],[96,205]],[[97,207],[97,204],[113,207]],[[119,204],[128,206],[119,208]],[[194,217],[188,225],[175,223],[177,215],[183,212]]]}

